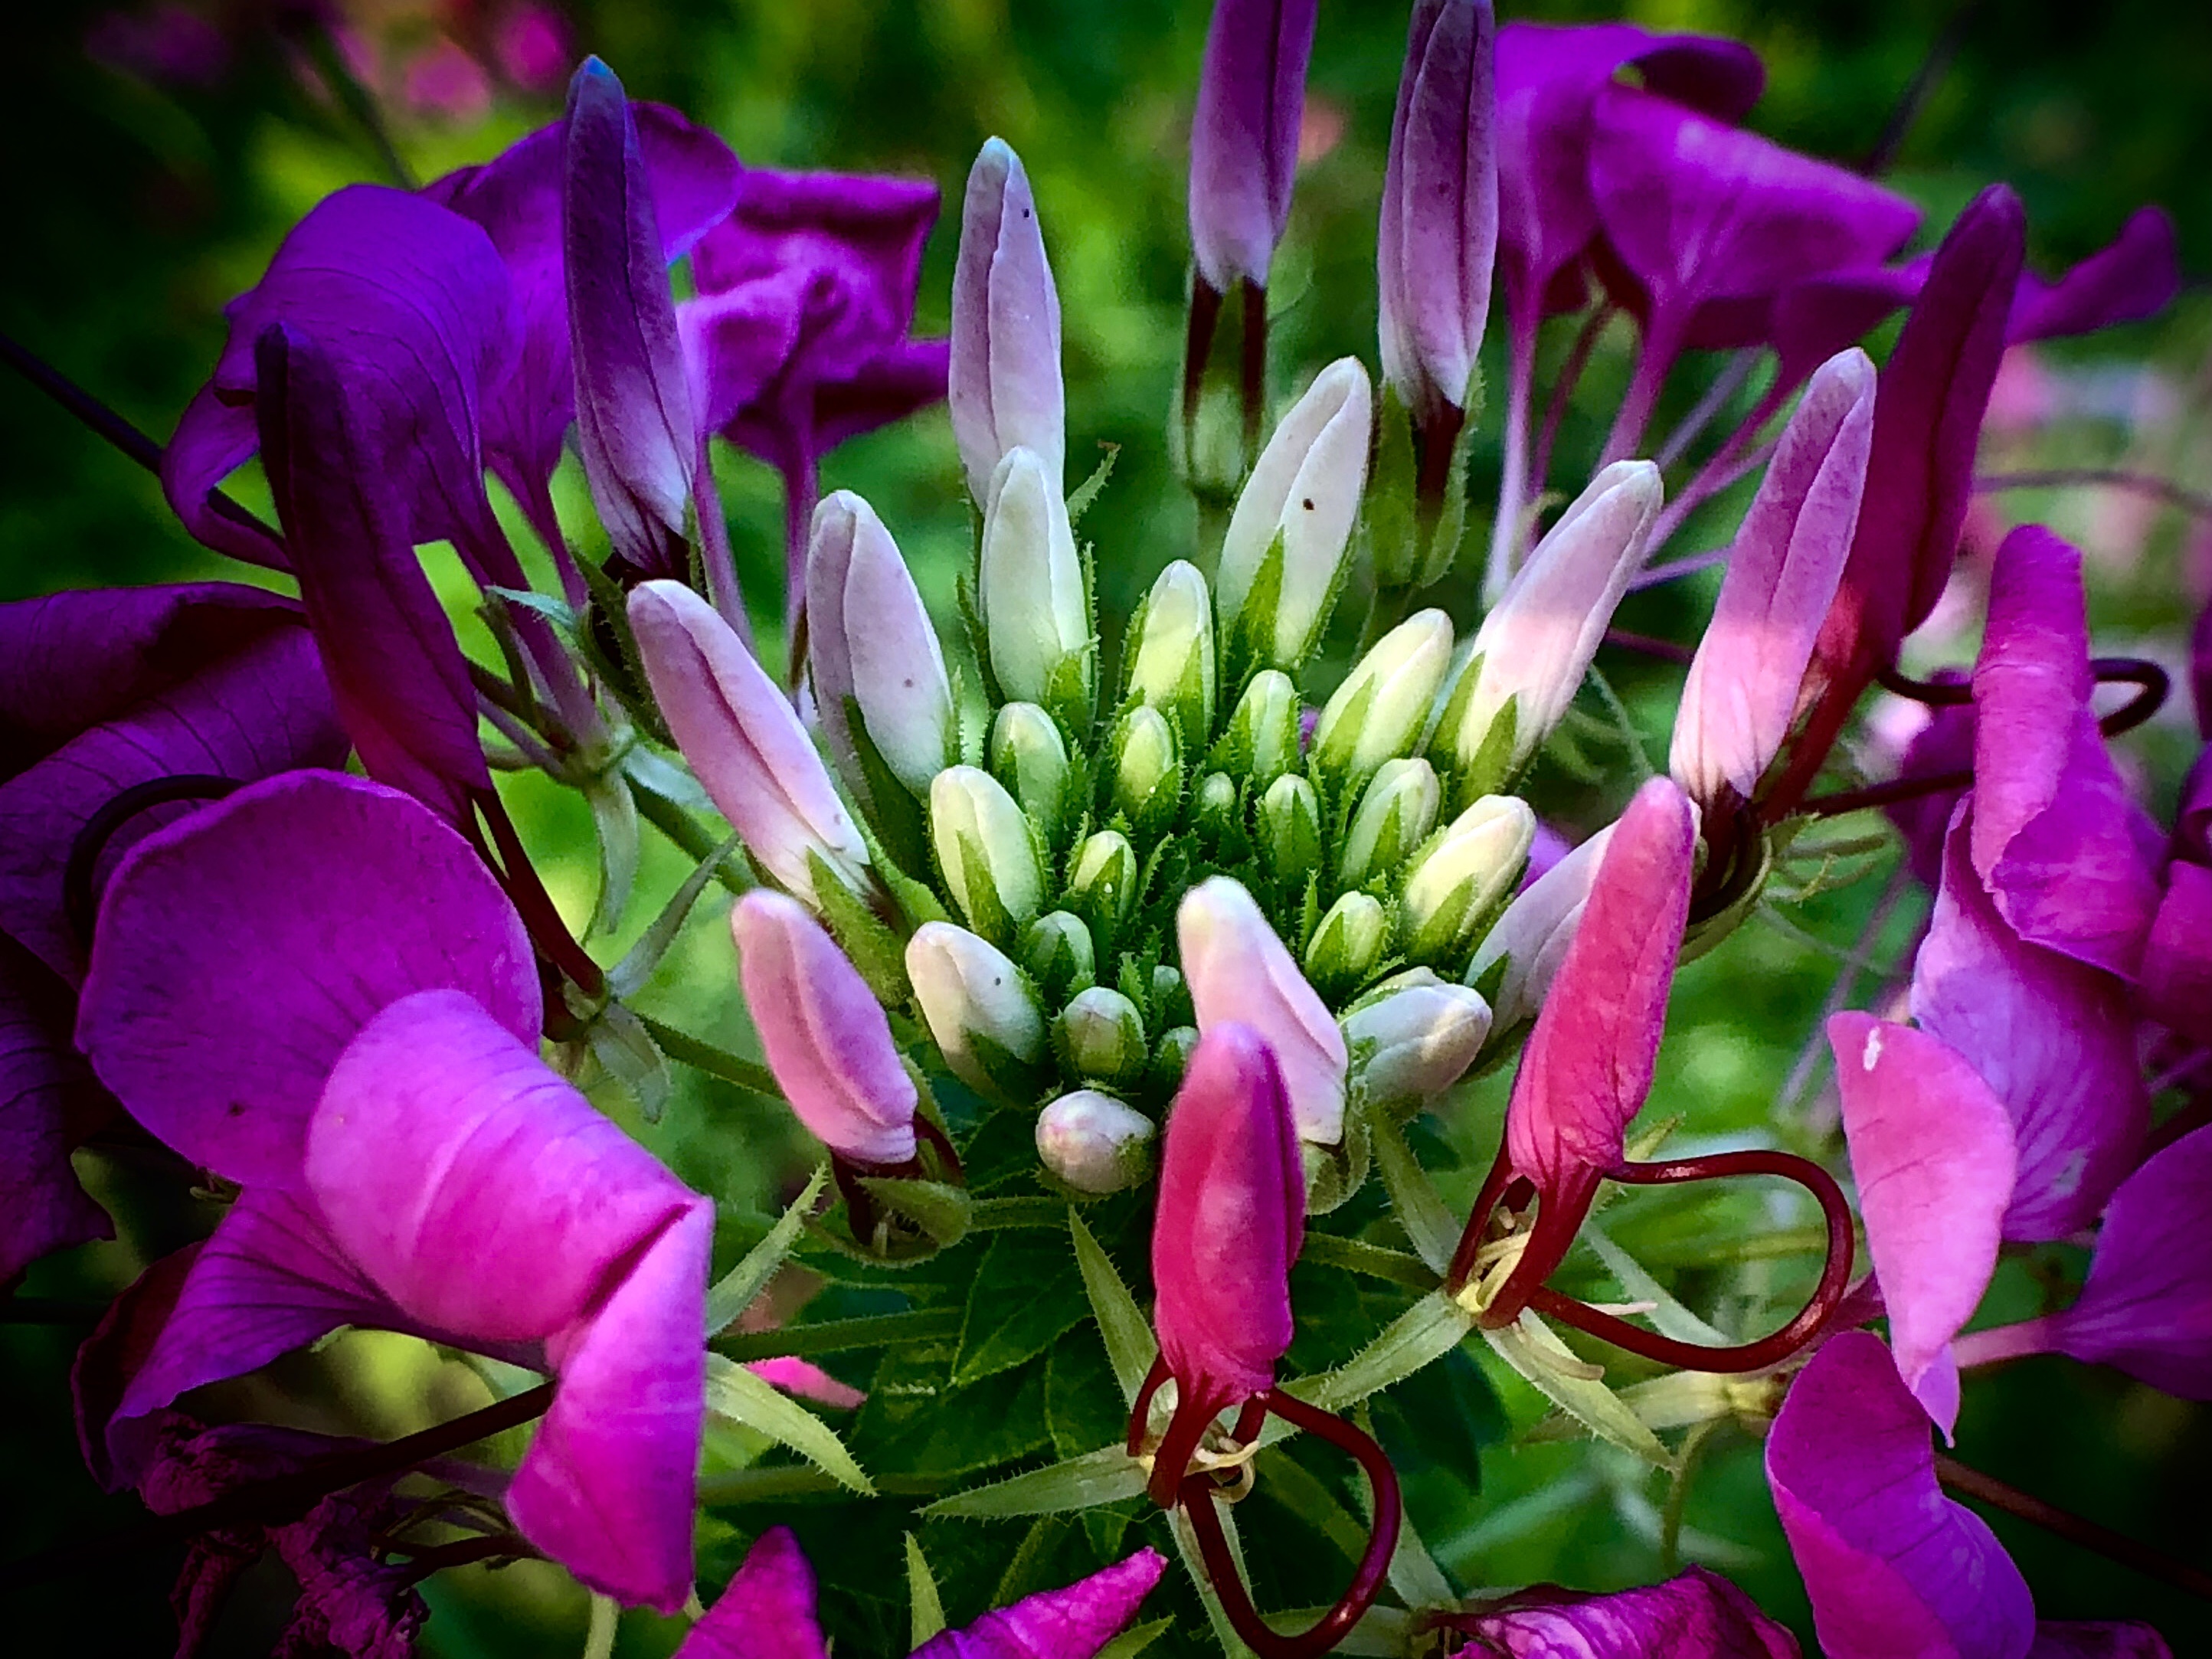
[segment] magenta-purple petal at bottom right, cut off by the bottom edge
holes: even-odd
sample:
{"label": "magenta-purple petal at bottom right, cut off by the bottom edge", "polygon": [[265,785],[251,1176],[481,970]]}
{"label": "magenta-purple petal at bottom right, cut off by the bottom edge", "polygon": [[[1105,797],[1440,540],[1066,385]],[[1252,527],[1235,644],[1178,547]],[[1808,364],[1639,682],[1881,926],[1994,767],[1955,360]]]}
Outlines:
{"label": "magenta-purple petal at bottom right, cut off by the bottom edge", "polygon": [[1880,1338],[1829,1338],[1767,1436],[1767,1482],[1829,1659],[2020,1659],[2026,1579],[1936,1484],[1929,1420]]}

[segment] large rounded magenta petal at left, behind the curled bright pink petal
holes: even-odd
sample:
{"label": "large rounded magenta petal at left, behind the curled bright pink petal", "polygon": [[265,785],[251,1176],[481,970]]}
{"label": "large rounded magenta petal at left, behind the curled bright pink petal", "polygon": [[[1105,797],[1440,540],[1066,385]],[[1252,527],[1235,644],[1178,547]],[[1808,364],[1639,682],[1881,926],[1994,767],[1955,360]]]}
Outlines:
{"label": "large rounded magenta petal at left, behind the curled bright pink petal", "polygon": [[438,987],[535,1040],[529,938],[469,845],[394,790],[290,772],[131,852],[108,883],[77,1044],[179,1152],[290,1188],[345,1044]]}

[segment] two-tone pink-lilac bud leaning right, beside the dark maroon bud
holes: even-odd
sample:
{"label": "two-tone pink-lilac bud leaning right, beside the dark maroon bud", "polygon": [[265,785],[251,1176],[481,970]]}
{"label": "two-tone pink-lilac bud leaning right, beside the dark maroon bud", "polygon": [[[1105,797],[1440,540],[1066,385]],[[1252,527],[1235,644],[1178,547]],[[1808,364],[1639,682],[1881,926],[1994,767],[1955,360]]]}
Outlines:
{"label": "two-tone pink-lilac bud leaning right, beside the dark maroon bud", "polygon": [[1790,737],[1820,617],[1851,553],[1871,429],[1874,365],[1854,347],[1812,378],[1790,416],[1690,661],[1670,772],[1699,801],[1723,787],[1750,801]]}

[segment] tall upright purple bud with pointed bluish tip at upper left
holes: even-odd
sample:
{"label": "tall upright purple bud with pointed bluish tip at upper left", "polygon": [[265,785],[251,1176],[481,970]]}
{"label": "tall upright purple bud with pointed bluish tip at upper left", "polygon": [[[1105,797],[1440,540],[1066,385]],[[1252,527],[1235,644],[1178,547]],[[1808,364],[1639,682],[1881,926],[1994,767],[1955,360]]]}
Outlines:
{"label": "tall upright purple bud with pointed bluish tip at upper left", "polygon": [[622,82],[597,58],[568,82],[562,257],[591,498],[630,568],[681,575],[699,429],[644,144]]}

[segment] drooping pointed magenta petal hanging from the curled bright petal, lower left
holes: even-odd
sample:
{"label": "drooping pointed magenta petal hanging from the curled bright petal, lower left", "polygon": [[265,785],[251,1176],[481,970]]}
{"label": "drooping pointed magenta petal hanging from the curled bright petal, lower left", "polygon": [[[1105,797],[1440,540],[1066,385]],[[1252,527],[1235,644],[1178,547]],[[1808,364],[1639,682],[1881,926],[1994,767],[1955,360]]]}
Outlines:
{"label": "drooping pointed magenta petal hanging from the curled bright petal, lower left", "polygon": [[668,1615],[692,1593],[712,1243],[714,1210],[697,1199],[546,1345],[553,1409],[507,1489],[538,1548],[602,1595]]}

